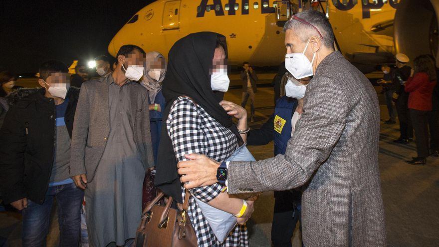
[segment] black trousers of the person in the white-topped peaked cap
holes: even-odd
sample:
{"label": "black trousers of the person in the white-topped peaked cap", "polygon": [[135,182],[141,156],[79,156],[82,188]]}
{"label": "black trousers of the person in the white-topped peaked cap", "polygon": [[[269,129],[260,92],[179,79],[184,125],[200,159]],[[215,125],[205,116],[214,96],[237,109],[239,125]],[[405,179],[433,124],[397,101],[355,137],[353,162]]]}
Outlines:
{"label": "black trousers of the person in the white-topped peaked cap", "polygon": [[409,94],[404,92],[398,97],[395,103],[396,111],[398,112],[398,119],[400,120],[401,139],[413,138],[413,127],[410,118],[408,101]]}

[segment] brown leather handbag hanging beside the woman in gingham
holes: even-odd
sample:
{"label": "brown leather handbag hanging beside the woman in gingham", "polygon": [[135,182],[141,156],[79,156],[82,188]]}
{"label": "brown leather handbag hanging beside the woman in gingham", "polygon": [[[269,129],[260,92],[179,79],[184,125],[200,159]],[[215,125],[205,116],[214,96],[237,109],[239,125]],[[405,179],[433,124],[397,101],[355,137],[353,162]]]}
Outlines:
{"label": "brown leather handbag hanging beside the woman in gingham", "polygon": [[165,206],[158,205],[164,196],[160,192],[143,211],[134,247],[197,247],[197,236],[188,221],[191,194],[186,191],[181,212],[171,208],[172,197]]}

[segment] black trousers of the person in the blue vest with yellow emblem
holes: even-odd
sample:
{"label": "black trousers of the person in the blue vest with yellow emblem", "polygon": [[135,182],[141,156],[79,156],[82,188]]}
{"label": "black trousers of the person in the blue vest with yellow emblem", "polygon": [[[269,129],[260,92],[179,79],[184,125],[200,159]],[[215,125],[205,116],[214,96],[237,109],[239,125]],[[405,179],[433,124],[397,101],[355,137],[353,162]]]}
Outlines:
{"label": "black trousers of the person in the blue vest with yellow emblem", "polygon": [[[291,238],[297,221],[301,226],[301,213],[297,208],[300,203],[300,192],[275,191],[274,215],[271,224],[271,242],[273,247],[291,247]],[[300,207],[300,206],[299,206]]]}

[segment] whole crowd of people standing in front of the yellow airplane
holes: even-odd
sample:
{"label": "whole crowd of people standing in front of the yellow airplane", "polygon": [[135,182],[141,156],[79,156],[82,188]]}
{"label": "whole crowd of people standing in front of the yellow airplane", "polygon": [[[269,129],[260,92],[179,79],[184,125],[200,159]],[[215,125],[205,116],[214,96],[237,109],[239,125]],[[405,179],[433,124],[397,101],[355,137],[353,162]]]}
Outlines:
{"label": "whole crowd of people standing in front of the yellow airplane", "polygon": [[[40,88],[17,89],[15,76],[1,72],[0,191],[22,213],[23,246],[45,246],[54,199],[60,246],[143,246],[155,233],[136,232],[157,190],[175,208],[187,202],[193,246],[248,246],[245,223],[263,191],[275,191],[273,246],[291,246],[297,222],[304,246],[385,246],[375,89],[334,49],[324,14],[297,13],[284,31],[275,109],[260,129],[247,125],[258,80],[248,62],[240,104],[223,100],[227,45],[214,32],[181,38],[168,61],[123,45],[115,64],[95,59],[93,80],[84,64],[70,77],[57,60],[40,65]],[[395,102],[397,141],[408,143],[413,128],[418,157],[409,162],[425,164],[429,145],[433,155],[439,145],[435,63],[419,56],[411,69],[407,56],[396,58],[396,68],[382,67],[386,123],[396,123]],[[273,158],[228,159],[270,141]],[[235,223],[225,237],[206,205]]]}

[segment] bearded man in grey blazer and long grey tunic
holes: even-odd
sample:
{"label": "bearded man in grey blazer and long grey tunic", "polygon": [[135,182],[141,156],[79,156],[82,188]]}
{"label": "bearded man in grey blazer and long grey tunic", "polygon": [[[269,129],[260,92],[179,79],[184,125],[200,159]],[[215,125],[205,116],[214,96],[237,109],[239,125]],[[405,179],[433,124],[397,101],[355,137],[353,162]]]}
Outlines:
{"label": "bearded man in grey blazer and long grey tunic", "polygon": [[124,45],[116,69],[81,86],[73,125],[70,175],[85,190],[91,246],[132,243],[142,210],[145,170],[154,166],[145,52]]}

